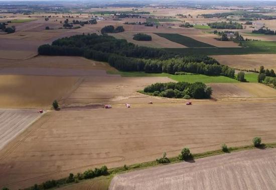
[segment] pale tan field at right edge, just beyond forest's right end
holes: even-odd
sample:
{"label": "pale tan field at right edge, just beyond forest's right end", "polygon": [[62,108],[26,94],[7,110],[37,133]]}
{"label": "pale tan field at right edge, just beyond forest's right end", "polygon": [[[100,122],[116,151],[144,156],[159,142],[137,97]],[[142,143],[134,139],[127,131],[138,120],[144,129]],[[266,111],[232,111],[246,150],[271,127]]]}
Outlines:
{"label": "pale tan field at right edge, just beyond forest's right end", "polygon": [[238,69],[256,69],[261,65],[264,68],[276,69],[275,54],[247,54],[247,55],[213,55],[219,63]]}

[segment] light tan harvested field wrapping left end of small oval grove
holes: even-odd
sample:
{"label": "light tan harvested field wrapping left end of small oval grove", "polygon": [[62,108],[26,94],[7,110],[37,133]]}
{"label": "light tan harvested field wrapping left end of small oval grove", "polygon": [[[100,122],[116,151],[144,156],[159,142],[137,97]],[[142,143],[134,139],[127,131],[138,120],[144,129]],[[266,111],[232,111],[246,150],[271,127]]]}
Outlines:
{"label": "light tan harvested field wrapping left end of small oval grove", "polygon": [[140,104],[156,102],[168,102],[167,99],[151,97],[136,92],[156,82],[174,81],[168,77],[120,77],[118,75],[106,75],[85,77],[83,82],[70,96],[61,103],[64,107],[85,106],[91,104]]}

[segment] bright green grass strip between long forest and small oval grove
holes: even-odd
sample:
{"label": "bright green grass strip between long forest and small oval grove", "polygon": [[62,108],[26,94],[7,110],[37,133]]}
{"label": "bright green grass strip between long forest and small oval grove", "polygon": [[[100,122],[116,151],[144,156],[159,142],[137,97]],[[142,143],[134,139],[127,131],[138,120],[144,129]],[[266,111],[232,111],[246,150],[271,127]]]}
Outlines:
{"label": "bright green grass strip between long forest and small oval grove", "polygon": [[207,76],[203,74],[193,75],[173,75],[168,73],[145,73],[145,72],[123,72],[123,71],[107,71],[108,74],[119,74],[123,77],[141,77],[141,76],[167,76],[176,81],[185,81],[189,83],[203,82],[203,83],[233,83],[239,82],[233,78],[226,76]]}

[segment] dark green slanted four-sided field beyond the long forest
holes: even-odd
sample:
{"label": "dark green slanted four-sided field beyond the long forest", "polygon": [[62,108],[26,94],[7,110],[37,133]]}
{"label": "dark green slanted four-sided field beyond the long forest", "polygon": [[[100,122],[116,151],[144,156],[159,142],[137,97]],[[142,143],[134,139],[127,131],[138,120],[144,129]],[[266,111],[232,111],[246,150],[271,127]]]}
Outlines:
{"label": "dark green slanted four-sided field beyond the long forest", "polygon": [[[176,43],[182,44],[187,47],[208,47],[208,48],[215,47],[210,44],[206,44],[206,43],[197,41],[193,38],[183,36],[180,34],[166,34],[166,33],[155,33],[155,34],[160,37],[166,38],[172,42],[176,42]],[[185,48],[185,49],[187,49],[187,48]]]}

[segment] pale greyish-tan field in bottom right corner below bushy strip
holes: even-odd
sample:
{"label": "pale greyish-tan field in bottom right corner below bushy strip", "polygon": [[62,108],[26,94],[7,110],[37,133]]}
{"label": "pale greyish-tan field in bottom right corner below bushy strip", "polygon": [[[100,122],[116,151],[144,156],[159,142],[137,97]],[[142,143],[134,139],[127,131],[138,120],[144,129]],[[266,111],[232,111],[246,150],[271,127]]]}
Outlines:
{"label": "pale greyish-tan field in bottom right corner below bushy strip", "polygon": [[276,189],[276,148],[196,159],[115,176],[113,189]]}

